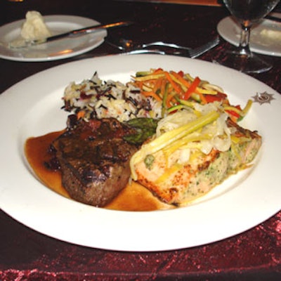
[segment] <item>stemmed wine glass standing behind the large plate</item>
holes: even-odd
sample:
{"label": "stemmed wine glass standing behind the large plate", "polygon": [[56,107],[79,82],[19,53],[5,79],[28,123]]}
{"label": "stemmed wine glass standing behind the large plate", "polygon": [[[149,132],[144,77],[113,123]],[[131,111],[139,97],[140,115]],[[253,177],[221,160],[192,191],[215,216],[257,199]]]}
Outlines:
{"label": "stemmed wine glass standing behind the large plate", "polygon": [[272,65],[250,51],[251,26],[259,22],[275,8],[280,0],[223,0],[230,13],[240,22],[242,32],[238,47],[223,51],[214,63],[235,68],[245,73],[261,73],[270,70]]}

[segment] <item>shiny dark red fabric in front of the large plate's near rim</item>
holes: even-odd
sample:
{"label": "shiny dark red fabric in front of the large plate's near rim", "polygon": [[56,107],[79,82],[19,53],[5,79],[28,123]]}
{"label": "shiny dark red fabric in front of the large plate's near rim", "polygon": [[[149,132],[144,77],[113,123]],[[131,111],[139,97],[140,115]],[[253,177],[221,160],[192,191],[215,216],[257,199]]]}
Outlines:
{"label": "shiny dark red fabric in front of the large plate's near rim", "polygon": [[281,274],[281,212],[256,228],[221,242],[152,253],[80,247],[36,233],[2,212],[3,221],[1,241],[5,244],[1,246],[0,277],[6,281],[156,277],[185,280],[198,276],[233,277],[238,273],[270,273],[273,277]]}

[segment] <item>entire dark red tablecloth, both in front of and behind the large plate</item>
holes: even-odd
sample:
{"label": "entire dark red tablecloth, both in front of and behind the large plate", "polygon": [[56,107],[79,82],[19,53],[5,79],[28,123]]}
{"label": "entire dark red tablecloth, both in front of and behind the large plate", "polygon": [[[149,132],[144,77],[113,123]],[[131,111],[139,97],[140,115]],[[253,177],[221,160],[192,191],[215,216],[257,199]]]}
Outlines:
{"label": "entire dark red tablecloth, both in front of and behind the large plate", "polygon": [[[31,10],[43,15],[81,15],[99,22],[132,20],[135,25],[110,34],[186,46],[197,46],[214,37],[216,25],[228,15],[223,6],[166,1],[2,0],[0,25],[20,20]],[[221,40],[219,46],[199,59],[210,61],[228,46]],[[104,43],[64,60],[28,63],[0,59],[0,93],[41,70],[113,53],[119,51]],[[263,58],[273,63],[273,69],[251,76],[281,92],[281,59]],[[281,212],[235,237],[164,252],[107,251],[69,244],[23,226],[4,211],[0,211],[0,229],[0,280],[281,280]]]}

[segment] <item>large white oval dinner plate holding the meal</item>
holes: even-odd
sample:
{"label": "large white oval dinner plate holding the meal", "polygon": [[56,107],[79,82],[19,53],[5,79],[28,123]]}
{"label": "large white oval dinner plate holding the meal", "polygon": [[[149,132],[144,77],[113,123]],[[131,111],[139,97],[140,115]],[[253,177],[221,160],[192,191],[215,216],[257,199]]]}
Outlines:
{"label": "large white oval dinner plate holding the meal", "polygon": [[[81,204],[46,188],[27,164],[27,138],[65,128],[65,86],[98,72],[129,81],[138,70],[183,70],[223,87],[231,103],[254,102],[242,126],[258,130],[263,145],[251,168],[231,176],[202,200],[162,211],[114,211]],[[222,78],[223,77],[223,78]],[[51,81],[51,83],[50,83]],[[120,251],[164,251],[223,240],[280,210],[281,96],[235,70],[169,55],[109,55],[53,67],[20,81],[0,96],[0,207],[39,233]]]}

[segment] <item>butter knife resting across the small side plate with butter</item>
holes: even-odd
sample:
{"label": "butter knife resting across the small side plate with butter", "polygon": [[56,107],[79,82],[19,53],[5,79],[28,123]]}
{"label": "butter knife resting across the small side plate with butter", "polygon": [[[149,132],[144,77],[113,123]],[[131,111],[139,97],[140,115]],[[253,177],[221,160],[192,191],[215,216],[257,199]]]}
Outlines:
{"label": "butter knife resting across the small side plate with butter", "polygon": [[28,46],[34,46],[38,44],[43,44],[43,43],[48,43],[51,41],[55,41],[58,39],[63,39],[65,37],[77,37],[79,35],[84,35],[84,34],[90,34],[92,32],[95,32],[96,30],[103,30],[103,29],[110,29],[113,27],[122,27],[122,26],[127,26],[131,25],[133,22],[129,21],[121,21],[121,22],[112,22],[112,23],[107,23],[103,25],[92,25],[90,27],[84,27],[79,30],[71,30],[70,32],[65,32],[63,34],[58,34],[54,35],[51,37],[47,37],[45,39],[34,39],[34,40],[22,40],[22,42],[17,42],[17,44],[13,45],[13,42],[9,45],[10,48],[25,48]]}

